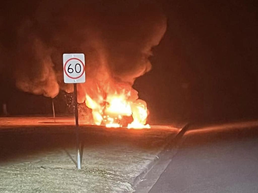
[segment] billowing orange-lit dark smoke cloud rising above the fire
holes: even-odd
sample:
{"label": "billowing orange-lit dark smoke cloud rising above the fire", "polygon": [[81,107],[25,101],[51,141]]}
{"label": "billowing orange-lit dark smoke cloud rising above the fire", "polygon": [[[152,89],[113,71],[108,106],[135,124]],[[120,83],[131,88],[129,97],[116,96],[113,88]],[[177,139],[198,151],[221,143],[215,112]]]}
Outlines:
{"label": "billowing orange-lit dark smoke cloud rising above the fire", "polygon": [[[19,89],[55,97],[63,83],[62,54],[84,53],[86,92],[110,81],[131,86],[151,69],[148,57],[166,30],[166,18],[155,2],[40,1],[17,25],[15,80]],[[105,89],[103,89],[105,91]]]}

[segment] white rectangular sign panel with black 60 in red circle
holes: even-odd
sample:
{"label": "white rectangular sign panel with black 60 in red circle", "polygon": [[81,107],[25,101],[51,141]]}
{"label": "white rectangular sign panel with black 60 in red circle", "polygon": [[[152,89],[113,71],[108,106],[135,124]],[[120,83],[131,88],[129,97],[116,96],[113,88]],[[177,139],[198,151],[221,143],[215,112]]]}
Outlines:
{"label": "white rectangular sign panel with black 60 in red circle", "polygon": [[63,71],[65,83],[85,82],[84,54],[63,54]]}

